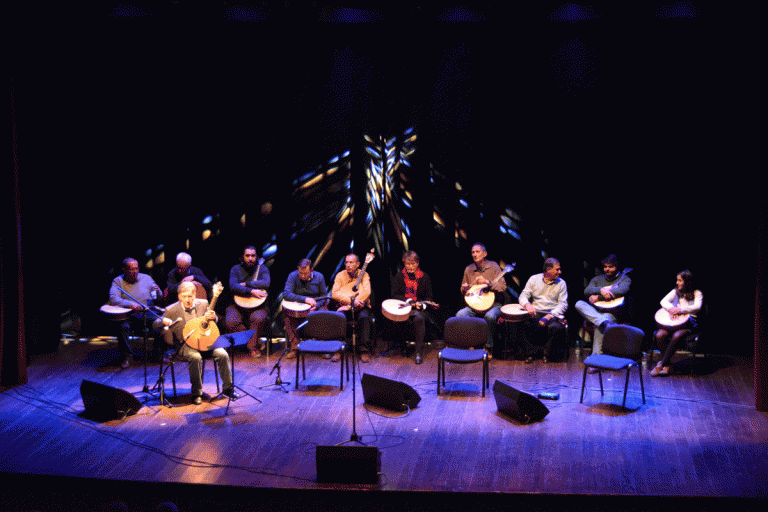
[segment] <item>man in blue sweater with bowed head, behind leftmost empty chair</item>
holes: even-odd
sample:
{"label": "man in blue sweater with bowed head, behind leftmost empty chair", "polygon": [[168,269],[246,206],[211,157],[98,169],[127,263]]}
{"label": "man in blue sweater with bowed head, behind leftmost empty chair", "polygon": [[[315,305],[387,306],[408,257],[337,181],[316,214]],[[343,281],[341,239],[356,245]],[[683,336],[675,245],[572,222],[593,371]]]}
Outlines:
{"label": "man in blue sweater with bowed head, behind leftmost empty chair", "polygon": [[[309,311],[327,310],[327,296],[328,288],[325,285],[323,274],[312,270],[312,261],[306,258],[299,261],[298,268],[288,274],[288,279],[285,280],[283,300],[308,304],[310,306]],[[285,337],[290,347],[290,352],[286,358],[294,359],[296,358],[296,345],[299,343],[296,328],[301,319],[292,317],[283,310],[283,321]]]}

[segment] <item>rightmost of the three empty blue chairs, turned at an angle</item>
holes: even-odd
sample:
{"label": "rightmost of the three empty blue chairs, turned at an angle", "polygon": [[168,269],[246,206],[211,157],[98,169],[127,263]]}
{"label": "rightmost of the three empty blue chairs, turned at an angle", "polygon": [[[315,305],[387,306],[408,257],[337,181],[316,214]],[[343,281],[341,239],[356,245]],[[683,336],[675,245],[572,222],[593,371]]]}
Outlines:
{"label": "rightmost of the three empty blue chairs, turned at an angle", "polygon": [[643,337],[645,333],[637,327],[623,324],[613,324],[608,326],[603,336],[603,353],[592,354],[584,359],[584,377],[581,381],[581,400],[584,403],[584,388],[587,384],[587,370],[594,368],[600,379],[600,395],[603,392],[603,371],[619,372],[626,370],[627,376],[624,381],[624,400],[621,406],[627,403],[627,388],[629,387],[629,371],[632,367],[637,367],[640,374],[640,389],[643,393],[643,404],[645,404],[645,386],[643,386]]}

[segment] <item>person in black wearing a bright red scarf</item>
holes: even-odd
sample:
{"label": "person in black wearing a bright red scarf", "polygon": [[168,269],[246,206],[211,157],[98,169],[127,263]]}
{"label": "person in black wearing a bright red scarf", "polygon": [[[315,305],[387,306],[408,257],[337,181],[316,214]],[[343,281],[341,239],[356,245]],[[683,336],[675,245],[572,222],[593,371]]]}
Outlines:
{"label": "person in black wearing a bright red scarf", "polygon": [[424,308],[426,304],[422,301],[432,300],[432,281],[419,268],[419,255],[414,251],[408,251],[403,255],[403,271],[392,280],[392,298],[411,302],[411,316],[408,317],[407,322],[413,326],[416,342],[414,362],[421,364],[427,322],[431,321],[429,313]]}

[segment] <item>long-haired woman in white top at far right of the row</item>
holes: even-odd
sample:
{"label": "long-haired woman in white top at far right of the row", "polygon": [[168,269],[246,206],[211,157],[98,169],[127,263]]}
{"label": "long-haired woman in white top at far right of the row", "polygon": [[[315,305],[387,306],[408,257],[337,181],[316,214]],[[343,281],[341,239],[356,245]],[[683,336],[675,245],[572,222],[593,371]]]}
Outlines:
{"label": "long-haired woman in white top at far right of the row", "polygon": [[659,327],[653,333],[653,338],[656,340],[656,346],[662,353],[662,357],[661,361],[651,370],[651,377],[670,374],[672,370],[670,360],[677,351],[680,341],[684,340],[691,333],[691,328],[696,325],[696,314],[701,310],[703,300],[704,295],[695,289],[691,272],[683,270],[677,274],[675,289],[661,300],[661,307],[669,313],[672,319],[677,319],[682,315],[690,315],[690,318],[678,329]]}

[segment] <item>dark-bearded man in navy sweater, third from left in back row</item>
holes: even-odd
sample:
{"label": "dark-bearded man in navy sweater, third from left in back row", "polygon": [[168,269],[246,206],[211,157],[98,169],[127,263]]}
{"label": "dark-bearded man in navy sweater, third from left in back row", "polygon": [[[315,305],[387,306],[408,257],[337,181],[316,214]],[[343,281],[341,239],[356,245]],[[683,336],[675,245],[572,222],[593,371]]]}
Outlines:
{"label": "dark-bearded man in navy sweater, third from left in back row", "polygon": [[224,325],[228,333],[256,331],[247,343],[248,351],[255,359],[261,357],[264,348],[261,332],[269,318],[266,304],[269,283],[269,269],[258,260],[256,248],[246,247],[240,263],[229,271],[229,289],[235,296],[235,304],[227,306]]}

